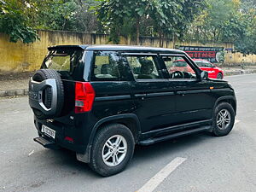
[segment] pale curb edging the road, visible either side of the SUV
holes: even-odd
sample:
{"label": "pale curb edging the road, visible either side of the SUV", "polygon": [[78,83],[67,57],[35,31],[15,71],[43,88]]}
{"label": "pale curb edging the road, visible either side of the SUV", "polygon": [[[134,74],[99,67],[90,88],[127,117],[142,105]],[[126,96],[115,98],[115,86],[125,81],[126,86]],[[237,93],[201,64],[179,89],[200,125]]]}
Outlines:
{"label": "pale curb edging the road, visible either side of the SUV", "polygon": [[[251,74],[256,73],[256,69],[253,70],[238,70],[235,72],[226,72],[224,73],[225,76],[231,75],[241,75],[241,74]],[[27,96],[28,90],[27,89],[18,89],[18,90],[0,90],[0,97],[4,96]]]}

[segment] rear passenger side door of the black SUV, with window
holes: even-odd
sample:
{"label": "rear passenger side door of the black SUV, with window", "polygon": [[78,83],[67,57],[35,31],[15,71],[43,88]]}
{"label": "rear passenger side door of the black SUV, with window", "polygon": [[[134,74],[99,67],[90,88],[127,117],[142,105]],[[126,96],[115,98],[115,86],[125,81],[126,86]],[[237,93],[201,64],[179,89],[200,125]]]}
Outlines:
{"label": "rear passenger side door of the black SUV, with window", "polygon": [[[131,96],[144,135],[172,125],[175,101],[169,80],[163,77],[158,55],[124,54],[131,67]],[[151,134],[151,136],[153,136]]]}

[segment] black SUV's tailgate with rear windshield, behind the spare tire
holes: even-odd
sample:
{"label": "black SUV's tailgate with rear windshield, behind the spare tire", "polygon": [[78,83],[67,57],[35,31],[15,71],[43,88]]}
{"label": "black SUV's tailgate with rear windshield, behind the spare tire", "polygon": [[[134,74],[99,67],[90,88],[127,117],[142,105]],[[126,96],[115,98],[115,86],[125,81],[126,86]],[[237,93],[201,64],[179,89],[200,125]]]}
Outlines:
{"label": "black SUV's tailgate with rear windshield, behind the spare tire", "polygon": [[73,46],[51,47],[41,68],[54,69],[61,74],[64,104],[61,117],[55,118],[55,121],[73,125],[69,116],[73,115],[74,111],[75,82],[84,81],[84,49]]}

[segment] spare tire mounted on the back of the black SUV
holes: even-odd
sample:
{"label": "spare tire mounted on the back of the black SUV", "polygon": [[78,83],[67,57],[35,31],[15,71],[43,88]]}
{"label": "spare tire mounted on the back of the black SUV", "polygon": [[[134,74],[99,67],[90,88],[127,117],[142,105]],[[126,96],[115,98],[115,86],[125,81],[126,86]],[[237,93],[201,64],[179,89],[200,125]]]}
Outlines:
{"label": "spare tire mounted on the back of the black SUV", "polygon": [[[44,111],[40,111],[37,108],[32,108],[33,113],[38,119],[49,119],[58,117],[61,115],[61,110],[64,104],[64,86],[61,80],[61,75],[52,69],[40,69],[32,76],[32,79],[37,82],[42,82],[45,79],[55,79],[57,86],[57,104],[56,113],[54,115],[46,115]],[[51,105],[52,90],[50,87],[44,89],[44,105],[49,108]]]}

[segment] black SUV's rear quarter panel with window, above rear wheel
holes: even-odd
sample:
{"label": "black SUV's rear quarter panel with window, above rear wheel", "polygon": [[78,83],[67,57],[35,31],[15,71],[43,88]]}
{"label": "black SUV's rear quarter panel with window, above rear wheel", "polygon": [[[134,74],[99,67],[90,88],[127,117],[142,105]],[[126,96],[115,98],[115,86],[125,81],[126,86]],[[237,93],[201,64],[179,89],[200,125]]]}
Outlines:
{"label": "black SUV's rear quarter panel with window, above rear wheel", "polygon": [[[118,51],[88,51],[90,63],[90,84],[96,92],[92,113],[96,120],[113,115],[131,113],[134,103],[131,99],[129,67]],[[93,52],[93,54],[92,54]]]}

